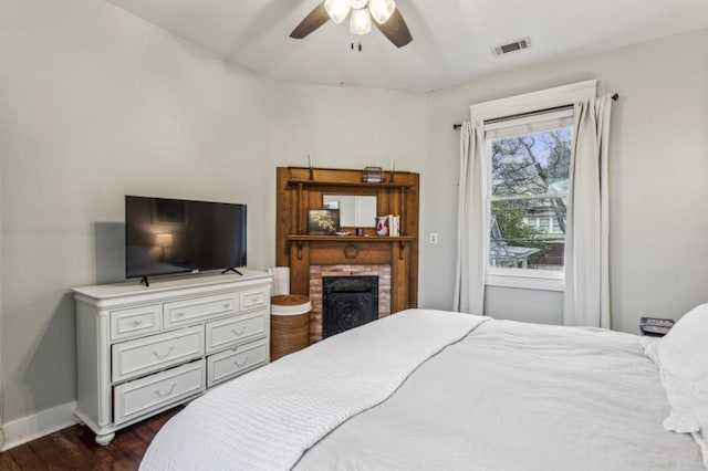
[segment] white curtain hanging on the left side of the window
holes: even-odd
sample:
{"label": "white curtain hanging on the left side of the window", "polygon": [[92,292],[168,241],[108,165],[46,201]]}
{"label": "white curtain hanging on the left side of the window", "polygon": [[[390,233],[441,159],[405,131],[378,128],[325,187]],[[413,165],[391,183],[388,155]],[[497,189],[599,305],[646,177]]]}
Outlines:
{"label": "white curtain hanging on the left side of the window", "polygon": [[[485,205],[483,124],[460,128],[460,182],[457,210],[457,261],[454,310],[482,314],[489,218]],[[481,222],[480,222],[481,221]]]}

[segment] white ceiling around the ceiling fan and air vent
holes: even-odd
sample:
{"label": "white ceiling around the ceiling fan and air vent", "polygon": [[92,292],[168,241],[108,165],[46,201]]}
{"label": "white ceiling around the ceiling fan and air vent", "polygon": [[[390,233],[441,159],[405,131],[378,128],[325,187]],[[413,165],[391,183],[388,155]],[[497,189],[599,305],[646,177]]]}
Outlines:
{"label": "white ceiling around the ceiling fan and air vent", "polygon": [[[373,29],[358,52],[348,21],[289,38],[321,0],[108,1],[266,77],[419,91],[708,27],[708,0],[397,0],[413,42]],[[491,54],[523,36],[531,49]]]}

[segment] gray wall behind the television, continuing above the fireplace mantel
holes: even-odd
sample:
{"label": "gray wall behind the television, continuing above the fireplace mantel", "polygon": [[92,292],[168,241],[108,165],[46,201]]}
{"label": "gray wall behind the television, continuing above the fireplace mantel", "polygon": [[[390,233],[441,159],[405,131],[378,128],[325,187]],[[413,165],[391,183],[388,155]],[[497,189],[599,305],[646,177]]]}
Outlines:
{"label": "gray wall behind the television, continuing above the fireplace mantel", "polygon": [[244,202],[274,262],[275,167],[421,171],[424,94],[274,84],[95,0],[0,20],[4,421],[75,400],[71,286],[122,280],[123,197]]}

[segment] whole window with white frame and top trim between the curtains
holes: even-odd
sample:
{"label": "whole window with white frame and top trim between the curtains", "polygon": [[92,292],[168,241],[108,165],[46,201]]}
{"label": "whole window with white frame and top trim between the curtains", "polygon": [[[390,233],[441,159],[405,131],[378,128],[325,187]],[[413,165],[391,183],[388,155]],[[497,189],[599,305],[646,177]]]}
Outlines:
{"label": "whole window with white frame and top trim between the curtains", "polygon": [[471,106],[487,178],[486,284],[563,290],[573,111],[595,81]]}

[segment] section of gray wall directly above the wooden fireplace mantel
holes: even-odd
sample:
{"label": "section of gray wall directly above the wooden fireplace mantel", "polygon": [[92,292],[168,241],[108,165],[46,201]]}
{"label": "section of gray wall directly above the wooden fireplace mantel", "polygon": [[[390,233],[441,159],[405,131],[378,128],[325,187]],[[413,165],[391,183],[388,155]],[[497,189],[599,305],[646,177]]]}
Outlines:
{"label": "section of gray wall directly above the wooden fireplace mantel", "polygon": [[[379,166],[421,171],[426,155],[423,93],[280,83],[274,160],[324,168]],[[425,178],[425,176],[424,176]]]}

